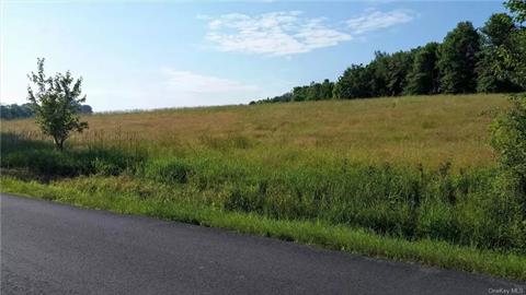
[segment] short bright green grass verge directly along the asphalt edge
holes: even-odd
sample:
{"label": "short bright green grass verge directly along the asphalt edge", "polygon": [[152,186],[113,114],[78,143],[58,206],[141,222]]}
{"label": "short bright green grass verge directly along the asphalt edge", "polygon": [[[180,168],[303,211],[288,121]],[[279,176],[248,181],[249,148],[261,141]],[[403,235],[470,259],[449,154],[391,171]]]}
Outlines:
{"label": "short bright green grass verge directly along the asphalt edge", "polygon": [[[107,179],[92,178],[98,189],[84,191],[69,181],[43,185],[2,177],[2,191],[32,196],[78,206],[107,210],[123,214],[155,216],[163,220],[233,229],[240,233],[312,244],[370,257],[457,269],[496,276],[526,280],[526,257],[503,255],[472,247],[460,247],[432,239],[404,240],[386,237],[361,228],[313,221],[278,221],[254,213],[230,212],[198,205],[190,201],[142,198],[124,189],[121,193],[104,189]],[[85,179],[83,179],[85,181]],[[83,181],[80,180],[80,181]],[[101,184],[98,184],[98,182]],[[118,182],[118,180],[116,180]],[[128,184],[129,185],[129,184]]]}

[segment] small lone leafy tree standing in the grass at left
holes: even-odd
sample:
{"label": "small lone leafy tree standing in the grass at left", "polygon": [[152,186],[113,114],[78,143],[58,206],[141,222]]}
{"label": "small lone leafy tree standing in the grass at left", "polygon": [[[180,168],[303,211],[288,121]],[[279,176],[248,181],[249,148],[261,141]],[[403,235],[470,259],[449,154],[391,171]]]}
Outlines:
{"label": "small lone leafy tree standing in the grass at left", "polygon": [[85,102],[81,96],[82,78],[73,79],[69,71],[46,76],[44,59],[37,60],[37,72],[27,75],[35,90],[27,86],[27,99],[31,102],[36,122],[44,134],[53,138],[55,146],[64,150],[64,143],[71,131],[82,132],[88,122],[80,121],[80,106]]}

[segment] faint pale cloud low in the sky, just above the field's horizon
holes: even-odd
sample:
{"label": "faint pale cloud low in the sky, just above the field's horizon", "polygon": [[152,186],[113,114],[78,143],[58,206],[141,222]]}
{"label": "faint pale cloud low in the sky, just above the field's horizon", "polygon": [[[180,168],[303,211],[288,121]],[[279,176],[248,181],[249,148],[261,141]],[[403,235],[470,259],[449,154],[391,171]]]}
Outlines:
{"label": "faint pale cloud low in the sky, just above the field's horizon", "polygon": [[178,92],[193,93],[228,93],[228,92],[252,92],[258,91],[254,85],[247,85],[238,81],[203,75],[188,71],[176,71],[163,69],[165,85]]}

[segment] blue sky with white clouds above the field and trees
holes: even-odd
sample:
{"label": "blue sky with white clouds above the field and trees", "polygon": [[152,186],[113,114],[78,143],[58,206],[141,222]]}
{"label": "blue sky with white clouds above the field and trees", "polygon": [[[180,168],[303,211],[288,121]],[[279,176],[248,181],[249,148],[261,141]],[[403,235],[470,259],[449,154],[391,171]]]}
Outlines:
{"label": "blue sky with white clouds above the field and trees", "polygon": [[248,103],[325,78],[375,50],[481,26],[501,1],[2,2],[1,103],[24,103],[36,58],[84,79],[95,110]]}

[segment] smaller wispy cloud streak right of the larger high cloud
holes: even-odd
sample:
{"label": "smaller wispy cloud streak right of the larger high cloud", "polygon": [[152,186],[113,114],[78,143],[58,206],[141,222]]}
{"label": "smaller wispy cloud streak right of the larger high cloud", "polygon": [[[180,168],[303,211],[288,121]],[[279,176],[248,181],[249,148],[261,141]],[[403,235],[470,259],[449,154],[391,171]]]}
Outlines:
{"label": "smaller wispy cloud streak right of the larger high cloud", "polygon": [[363,15],[348,19],[347,27],[354,34],[388,28],[397,24],[411,22],[414,15],[408,10],[392,10],[388,12],[368,10]]}

